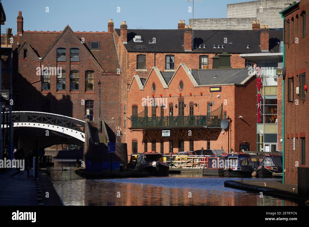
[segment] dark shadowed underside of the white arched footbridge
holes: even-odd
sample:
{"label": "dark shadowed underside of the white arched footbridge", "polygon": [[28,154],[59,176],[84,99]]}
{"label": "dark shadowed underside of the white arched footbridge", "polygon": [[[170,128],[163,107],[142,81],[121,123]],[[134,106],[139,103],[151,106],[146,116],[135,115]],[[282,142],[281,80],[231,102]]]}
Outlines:
{"label": "dark shadowed underside of the white arched footbridge", "polygon": [[44,149],[57,144],[74,144],[83,146],[83,141],[67,134],[49,130],[48,135],[44,128],[14,127],[14,146],[23,148],[25,152],[35,149],[36,140],[39,149]]}

